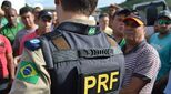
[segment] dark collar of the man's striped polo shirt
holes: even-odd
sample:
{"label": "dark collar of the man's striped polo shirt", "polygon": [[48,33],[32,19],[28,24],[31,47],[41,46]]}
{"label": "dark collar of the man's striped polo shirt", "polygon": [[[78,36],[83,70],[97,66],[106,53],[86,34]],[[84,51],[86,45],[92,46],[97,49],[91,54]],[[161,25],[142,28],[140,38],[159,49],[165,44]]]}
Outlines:
{"label": "dark collar of the man's striped polo shirt", "polygon": [[130,54],[130,53],[135,53],[139,49],[141,49],[144,44],[147,43],[145,40],[143,40],[142,42],[140,42],[137,46],[134,46],[131,51],[129,51],[128,53],[125,53],[125,45],[122,48],[122,51],[124,53],[124,55]]}

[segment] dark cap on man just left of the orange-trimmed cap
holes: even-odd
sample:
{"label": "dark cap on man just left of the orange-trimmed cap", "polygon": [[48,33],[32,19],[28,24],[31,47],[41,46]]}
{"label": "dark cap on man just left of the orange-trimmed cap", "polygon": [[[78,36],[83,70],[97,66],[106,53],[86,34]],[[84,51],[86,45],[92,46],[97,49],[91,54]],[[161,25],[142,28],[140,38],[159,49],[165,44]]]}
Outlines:
{"label": "dark cap on man just left of the orange-trimmed cap", "polygon": [[115,18],[115,15],[125,15],[125,17],[128,17],[128,15],[130,15],[132,12],[131,12],[131,10],[129,10],[129,9],[121,9],[121,10],[118,10],[114,14],[113,14],[113,17],[112,18]]}

